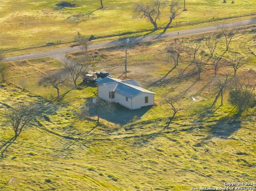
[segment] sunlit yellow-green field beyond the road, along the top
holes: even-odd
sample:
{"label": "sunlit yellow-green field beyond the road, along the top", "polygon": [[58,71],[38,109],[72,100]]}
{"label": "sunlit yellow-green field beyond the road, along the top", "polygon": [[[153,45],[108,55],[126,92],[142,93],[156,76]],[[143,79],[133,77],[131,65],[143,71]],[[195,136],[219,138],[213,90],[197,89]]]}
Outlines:
{"label": "sunlit yellow-green field beyond the road, along the top", "polygon": [[[99,7],[98,1],[76,0],[76,8],[57,10],[54,1],[20,0],[17,4],[12,0],[1,0],[1,49],[21,49],[45,45],[46,42],[70,41],[77,32],[84,35],[106,36],[120,32],[150,29],[152,26],[146,20],[133,17],[136,1],[106,1],[105,8]],[[254,10],[255,0],[236,1],[231,4],[221,0],[188,0],[188,11],[182,13],[176,22],[200,22],[212,18],[228,18],[246,15]],[[22,6],[20,6],[22,4]],[[93,12],[90,17],[86,14]],[[168,10],[164,10],[159,20],[159,26],[168,20]],[[100,26],[100,30],[99,29]],[[17,46],[18,45],[18,46]]]}

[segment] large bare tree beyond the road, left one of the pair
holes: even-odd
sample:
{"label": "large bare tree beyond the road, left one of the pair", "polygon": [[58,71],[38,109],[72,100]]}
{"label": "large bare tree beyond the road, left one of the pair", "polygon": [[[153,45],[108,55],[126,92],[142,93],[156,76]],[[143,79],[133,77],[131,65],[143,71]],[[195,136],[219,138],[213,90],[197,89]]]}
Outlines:
{"label": "large bare tree beyond the road, left one of the pair", "polygon": [[154,30],[158,30],[158,26],[156,21],[160,16],[160,10],[162,8],[163,2],[160,0],[156,0],[152,4],[138,4],[135,9],[135,16],[139,16],[140,18],[146,18],[154,25]]}

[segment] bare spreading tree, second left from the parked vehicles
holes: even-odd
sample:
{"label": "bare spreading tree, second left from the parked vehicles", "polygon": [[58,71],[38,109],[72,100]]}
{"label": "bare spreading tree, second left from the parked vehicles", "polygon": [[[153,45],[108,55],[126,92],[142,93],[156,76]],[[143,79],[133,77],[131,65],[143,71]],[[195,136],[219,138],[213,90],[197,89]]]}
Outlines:
{"label": "bare spreading tree, second left from the parked vehicles", "polygon": [[60,87],[66,83],[68,75],[63,69],[57,71],[47,71],[46,76],[42,77],[39,85],[52,86],[57,90],[58,97],[60,97]]}

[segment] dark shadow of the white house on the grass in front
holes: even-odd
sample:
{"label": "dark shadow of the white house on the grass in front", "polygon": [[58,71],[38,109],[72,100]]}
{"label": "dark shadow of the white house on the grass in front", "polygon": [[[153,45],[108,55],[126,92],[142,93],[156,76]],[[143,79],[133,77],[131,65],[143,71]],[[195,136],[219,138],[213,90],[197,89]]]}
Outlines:
{"label": "dark shadow of the white house on the grass in front", "polygon": [[[86,98],[85,106],[88,107],[89,116],[96,116],[96,106],[92,103],[91,97]],[[148,110],[150,110],[150,108],[151,106],[130,110],[120,104],[108,103],[103,100],[97,103],[97,109],[101,119],[120,125],[127,124],[134,118],[139,120],[144,114],[146,114],[146,112],[148,112]]]}

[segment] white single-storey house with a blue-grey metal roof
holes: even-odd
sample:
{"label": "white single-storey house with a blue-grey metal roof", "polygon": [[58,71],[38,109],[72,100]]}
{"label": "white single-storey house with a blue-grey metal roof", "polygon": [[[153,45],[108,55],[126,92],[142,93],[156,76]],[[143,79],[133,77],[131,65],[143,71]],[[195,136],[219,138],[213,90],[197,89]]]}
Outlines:
{"label": "white single-storey house with a blue-grey metal roof", "polygon": [[122,81],[106,77],[96,84],[98,97],[108,102],[119,103],[131,110],[154,105],[156,93],[142,88],[135,79]]}

